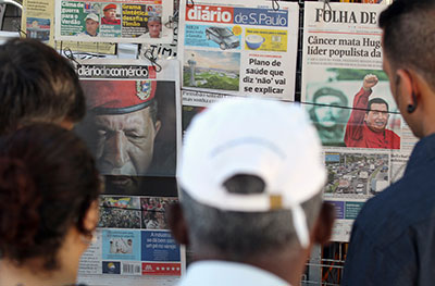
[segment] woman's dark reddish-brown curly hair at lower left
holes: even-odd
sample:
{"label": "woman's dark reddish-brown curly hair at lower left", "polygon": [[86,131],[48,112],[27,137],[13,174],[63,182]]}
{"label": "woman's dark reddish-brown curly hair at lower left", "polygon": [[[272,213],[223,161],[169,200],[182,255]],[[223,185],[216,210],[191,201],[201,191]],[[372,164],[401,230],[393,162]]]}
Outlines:
{"label": "woman's dark reddish-brown curly hair at lower left", "polygon": [[17,265],[57,254],[98,199],[101,182],[95,161],[72,132],[51,124],[24,127],[0,139],[0,253]]}

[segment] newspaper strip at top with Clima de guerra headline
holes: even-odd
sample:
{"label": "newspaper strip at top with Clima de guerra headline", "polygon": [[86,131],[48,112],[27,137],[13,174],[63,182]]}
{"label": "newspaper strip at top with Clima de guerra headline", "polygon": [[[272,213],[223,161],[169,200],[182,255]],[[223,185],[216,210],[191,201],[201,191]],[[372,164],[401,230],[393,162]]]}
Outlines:
{"label": "newspaper strip at top with Clima de guerra headline", "polygon": [[171,1],[57,0],[57,40],[94,42],[172,42],[165,25],[173,15]]}

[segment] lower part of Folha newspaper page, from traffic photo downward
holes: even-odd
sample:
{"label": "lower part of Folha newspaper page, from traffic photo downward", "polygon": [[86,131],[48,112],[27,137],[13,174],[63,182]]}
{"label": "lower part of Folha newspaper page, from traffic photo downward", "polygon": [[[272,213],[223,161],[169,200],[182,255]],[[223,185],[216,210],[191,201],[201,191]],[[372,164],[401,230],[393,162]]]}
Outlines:
{"label": "lower part of Folha newspaper page, from traffic photo downward", "polygon": [[334,241],[349,241],[353,221],[364,202],[391,182],[390,151],[325,148],[327,184],[324,199],[336,209]]}

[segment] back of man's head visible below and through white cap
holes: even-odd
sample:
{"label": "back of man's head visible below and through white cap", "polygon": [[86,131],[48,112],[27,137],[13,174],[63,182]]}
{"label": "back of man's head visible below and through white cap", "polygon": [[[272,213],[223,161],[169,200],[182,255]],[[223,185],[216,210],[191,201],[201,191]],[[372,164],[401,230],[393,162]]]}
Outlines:
{"label": "back of man's head visible below and through white cap", "polygon": [[[234,194],[244,194],[248,188],[262,190],[264,183],[256,176],[238,175],[226,181],[225,185],[233,185]],[[185,190],[181,191],[181,197],[189,239],[195,250],[200,245],[202,249],[220,252],[227,260],[247,261],[287,249],[299,249],[291,211],[222,211],[196,201]],[[321,204],[321,192],[301,204],[310,231]]]}

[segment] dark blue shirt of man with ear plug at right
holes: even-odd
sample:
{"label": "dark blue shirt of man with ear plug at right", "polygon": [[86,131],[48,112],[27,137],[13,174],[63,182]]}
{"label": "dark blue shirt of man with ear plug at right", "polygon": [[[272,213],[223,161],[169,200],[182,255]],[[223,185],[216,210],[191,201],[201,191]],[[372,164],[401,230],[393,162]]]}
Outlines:
{"label": "dark blue shirt of man with ear plug at right", "polygon": [[362,208],[341,285],[435,285],[435,134],[415,145],[403,177]]}

